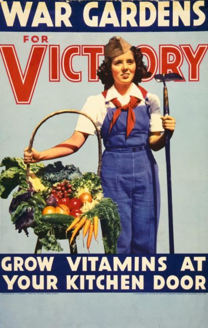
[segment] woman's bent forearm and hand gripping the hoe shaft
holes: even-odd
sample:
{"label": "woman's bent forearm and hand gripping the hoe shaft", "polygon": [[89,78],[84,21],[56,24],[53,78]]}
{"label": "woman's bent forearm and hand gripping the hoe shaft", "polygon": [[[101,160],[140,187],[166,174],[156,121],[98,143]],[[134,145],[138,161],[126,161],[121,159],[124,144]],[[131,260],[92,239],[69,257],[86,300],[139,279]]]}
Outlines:
{"label": "woman's bent forearm and hand gripping the hoe shaft", "polygon": [[[175,130],[176,121],[171,116],[162,116],[163,121],[163,128],[166,131],[170,131],[170,137],[172,137],[173,132]],[[165,147],[166,144],[166,136],[165,133],[161,134],[160,132],[151,132],[149,135],[149,147],[154,150],[158,151]]]}

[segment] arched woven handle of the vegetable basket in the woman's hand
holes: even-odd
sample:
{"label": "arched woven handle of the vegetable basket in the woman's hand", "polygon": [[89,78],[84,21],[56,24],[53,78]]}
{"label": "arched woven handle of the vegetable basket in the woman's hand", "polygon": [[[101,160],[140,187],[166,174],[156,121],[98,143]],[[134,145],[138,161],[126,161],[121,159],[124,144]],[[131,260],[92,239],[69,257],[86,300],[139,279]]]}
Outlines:
{"label": "arched woven handle of the vegetable basket in the woman's hand", "polygon": [[[49,114],[48,116],[46,116],[44,119],[42,119],[38,125],[35,127],[35,129],[32,132],[32,136],[30,138],[30,142],[29,142],[29,146],[28,146],[28,152],[32,151],[32,145],[33,145],[33,141],[34,141],[34,137],[36,135],[37,130],[41,127],[41,125],[47,121],[48,119],[50,119],[53,116],[56,115],[60,115],[60,114],[65,114],[65,113],[73,113],[73,114],[80,114],[85,116],[87,119],[89,119],[92,124],[95,127],[96,133],[97,133],[97,141],[98,141],[98,168],[97,168],[97,175],[100,176],[100,171],[101,171],[101,163],[102,163],[102,143],[101,143],[101,135],[100,135],[100,129],[97,128],[96,123],[94,122],[94,120],[87,115],[86,113],[83,113],[81,111],[77,111],[77,110],[60,110],[60,111],[56,111],[53,112],[51,114]],[[27,164],[27,170],[26,170],[26,181],[29,184],[29,173],[30,173],[30,164]]]}

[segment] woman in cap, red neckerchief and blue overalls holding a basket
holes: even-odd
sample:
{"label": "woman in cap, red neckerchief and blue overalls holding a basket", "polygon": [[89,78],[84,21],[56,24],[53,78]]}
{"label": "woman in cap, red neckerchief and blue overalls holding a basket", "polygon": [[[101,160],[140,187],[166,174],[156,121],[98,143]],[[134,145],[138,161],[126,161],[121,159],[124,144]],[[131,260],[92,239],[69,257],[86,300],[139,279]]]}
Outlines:
{"label": "woman in cap, red neckerchief and blue overalls holding a basket", "polygon": [[[101,183],[105,197],[118,204],[122,231],[118,253],[155,253],[160,212],[160,186],[157,163],[151,150],[165,146],[164,130],[171,135],[175,120],[161,117],[159,98],[138,86],[149,77],[139,49],[121,37],[105,46],[105,61],[97,75],[105,84],[102,94],[87,99],[82,111],[96,121],[105,145]],[[77,151],[92,123],[79,117],[72,137],[38,152],[25,151],[25,163],[66,156]]]}

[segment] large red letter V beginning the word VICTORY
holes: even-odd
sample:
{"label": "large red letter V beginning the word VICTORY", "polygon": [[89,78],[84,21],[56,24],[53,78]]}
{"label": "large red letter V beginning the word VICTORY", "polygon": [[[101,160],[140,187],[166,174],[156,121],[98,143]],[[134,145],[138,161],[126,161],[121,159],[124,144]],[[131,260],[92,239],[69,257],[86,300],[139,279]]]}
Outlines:
{"label": "large red letter V beginning the word VICTORY", "polygon": [[47,45],[32,45],[23,74],[14,44],[0,45],[0,52],[17,104],[31,102],[46,48]]}

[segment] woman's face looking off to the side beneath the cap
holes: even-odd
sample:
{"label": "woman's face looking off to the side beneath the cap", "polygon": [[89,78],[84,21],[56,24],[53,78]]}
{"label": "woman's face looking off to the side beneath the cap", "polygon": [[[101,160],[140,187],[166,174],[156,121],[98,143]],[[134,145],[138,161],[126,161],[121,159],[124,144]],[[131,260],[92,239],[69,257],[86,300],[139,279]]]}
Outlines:
{"label": "woman's face looking off to the side beneath the cap", "polygon": [[136,63],[131,50],[115,57],[111,65],[115,85],[130,84],[136,71]]}

